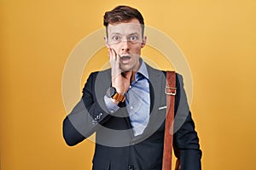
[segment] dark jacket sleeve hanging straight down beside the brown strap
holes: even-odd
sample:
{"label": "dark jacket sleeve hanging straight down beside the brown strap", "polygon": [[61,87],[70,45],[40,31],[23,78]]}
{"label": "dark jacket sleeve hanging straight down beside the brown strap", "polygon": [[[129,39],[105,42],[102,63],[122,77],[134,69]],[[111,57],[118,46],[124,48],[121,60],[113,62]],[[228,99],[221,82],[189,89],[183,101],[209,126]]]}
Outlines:
{"label": "dark jacket sleeve hanging straight down beside the brown strap", "polygon": [[195,131],[186,94],[183,78],[177,75],[177,96],[175,100],[175,120],[173,147],[175,155],[181,161],[182,170],[201,170],[201,150]]}

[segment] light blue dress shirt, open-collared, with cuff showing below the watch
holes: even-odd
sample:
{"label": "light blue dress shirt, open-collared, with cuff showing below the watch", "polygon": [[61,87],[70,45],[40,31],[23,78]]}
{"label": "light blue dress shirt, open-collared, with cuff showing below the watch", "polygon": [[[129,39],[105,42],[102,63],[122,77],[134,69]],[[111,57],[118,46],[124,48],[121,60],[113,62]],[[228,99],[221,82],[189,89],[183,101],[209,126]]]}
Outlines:
{"label": "light blue dress shirt, open-collared, with cuff showing below the watch", "polygon": [[[147,66],[141,59],[142,65],[135,75],[135,79],[131,82],[131,86],[125,93],[125,105],[130,116],[131,127],[134,136],[142,134],[149,121],[150,111],[150,93],[148,82]],[[104,97],[108,111],[111,113],[119,109],[118,105],[114,105],[111,99]]]}

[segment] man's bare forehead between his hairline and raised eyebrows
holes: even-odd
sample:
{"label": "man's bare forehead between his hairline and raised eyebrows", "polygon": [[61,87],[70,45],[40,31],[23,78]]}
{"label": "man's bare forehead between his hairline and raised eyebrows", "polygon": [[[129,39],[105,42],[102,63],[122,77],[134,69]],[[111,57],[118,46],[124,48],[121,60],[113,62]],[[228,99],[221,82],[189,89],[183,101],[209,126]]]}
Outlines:
{"label": "man's bare forehead between his hairline and raised eyebrows", "polygon": [[142,33],[142,26],[137,19],[132,19],[126,22],[119,22],[108,25],[108,34],[132,34]]}

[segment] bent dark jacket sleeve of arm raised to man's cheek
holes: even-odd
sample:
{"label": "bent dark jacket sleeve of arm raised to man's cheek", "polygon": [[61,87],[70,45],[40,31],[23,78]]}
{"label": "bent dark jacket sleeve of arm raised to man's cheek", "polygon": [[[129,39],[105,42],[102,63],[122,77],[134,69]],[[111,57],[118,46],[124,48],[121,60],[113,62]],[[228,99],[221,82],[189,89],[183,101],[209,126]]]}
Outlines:
{"label": "bent dark jacket sleeve of arm raised to man's cheek", "polygon": [[63,137],[68,145],[79,144],[108,121],[103,96],[95,94],[97,72],[91,73],[84,85],[82,99],[63,121]]}

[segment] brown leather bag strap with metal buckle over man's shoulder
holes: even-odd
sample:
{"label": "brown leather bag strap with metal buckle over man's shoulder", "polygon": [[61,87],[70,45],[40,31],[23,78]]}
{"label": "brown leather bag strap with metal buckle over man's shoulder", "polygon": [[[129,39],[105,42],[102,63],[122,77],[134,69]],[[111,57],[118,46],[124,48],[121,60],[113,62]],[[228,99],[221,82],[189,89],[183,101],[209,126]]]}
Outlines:
{"label": "brown leather bag strap with metal buckle over man's shoulder", "polygon": [[172,170],[172,134],[174,120],[174,100],[176,95],[176,73],[166,71],[166,130],[162,170]]}

